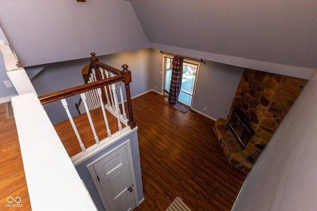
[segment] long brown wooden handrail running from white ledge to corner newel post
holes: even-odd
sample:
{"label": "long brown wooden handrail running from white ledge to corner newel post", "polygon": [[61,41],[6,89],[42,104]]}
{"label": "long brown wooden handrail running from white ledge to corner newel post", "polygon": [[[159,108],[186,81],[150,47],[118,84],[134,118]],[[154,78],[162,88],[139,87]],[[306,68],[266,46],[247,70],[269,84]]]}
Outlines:
{"label": "long brown wooden handrail running from white ledge to corner newel post", "polygon": [[47,103],[54,102],[56,100],[61,100],[66,97],[70,97],[76,94],[80,94],[89,90],[93,90],[99,87],[103,87],[105,85],[109,85],[109,84],[113,84],[113,83],[121,82],[121,81],[124,81],[123,75],[114,76],[109,79],[100,80],[100,81],[89,83],[89,84],[83,84],[83,85],[75,86],[72,88],[67,88],[61,91],[56,91],[50,94],[42,95],[42,96],[39,96],[39,99],[42,104],[47,104]]}

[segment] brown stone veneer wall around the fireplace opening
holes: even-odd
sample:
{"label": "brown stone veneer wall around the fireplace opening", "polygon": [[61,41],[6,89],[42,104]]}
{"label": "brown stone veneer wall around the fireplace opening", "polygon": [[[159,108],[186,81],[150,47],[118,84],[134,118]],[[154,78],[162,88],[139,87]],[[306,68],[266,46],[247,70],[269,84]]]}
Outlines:
{"label": "brown stone veneer wall around the fireplace opening", "polygon": [[[268,143],[306,83],[304,79],[244,70],[226,120],[228,123],[234,108],[255,130],[245,150],[239,149],[241,155],[253,155],[262,143]],[[224,146],[222,148],[225,150]],[[241,164],[235,166],[243,169]]]}

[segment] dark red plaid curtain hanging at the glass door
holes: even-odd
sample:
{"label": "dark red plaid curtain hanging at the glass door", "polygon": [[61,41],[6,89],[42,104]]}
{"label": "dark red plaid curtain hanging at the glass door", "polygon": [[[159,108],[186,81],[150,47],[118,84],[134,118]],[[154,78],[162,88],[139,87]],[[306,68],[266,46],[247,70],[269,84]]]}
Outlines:
{"label": "dark red plaid curtain hanging at the glass door", "polygon": [[169,88],[168,102],[174,106],[177,102],[183,76],[183,58],[174,56],[172,63],[172,77]]}

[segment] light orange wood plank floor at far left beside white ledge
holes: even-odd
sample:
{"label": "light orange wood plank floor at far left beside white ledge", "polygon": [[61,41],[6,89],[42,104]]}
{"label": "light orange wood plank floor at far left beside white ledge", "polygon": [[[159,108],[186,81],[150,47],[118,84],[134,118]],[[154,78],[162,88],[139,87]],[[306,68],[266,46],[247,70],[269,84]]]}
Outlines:
{"label": "light orange wood plank floor at far left beside white ledge", "polygon": [[[8,197],[21,198],[19,205],[8,207]],[[10,200],[9,200],[10,201]],[[12,206],[16,205],[12,203]],[[16,205],[17,206],[17,205]],[[26,185],[14,117],[6,119],[5,103],[0,104],[0,211],[30,211],[31,203]]]}

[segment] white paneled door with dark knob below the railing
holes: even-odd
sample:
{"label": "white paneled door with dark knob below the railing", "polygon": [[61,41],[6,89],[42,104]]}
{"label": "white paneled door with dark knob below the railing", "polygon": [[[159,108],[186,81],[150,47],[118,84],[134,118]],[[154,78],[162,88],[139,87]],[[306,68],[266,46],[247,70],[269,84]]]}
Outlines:
{"label": "white paneled door with dark knob below the railing", "polygon": [[124,145],[93,165],[110,211],[132,211],[136,207],[128,150]]}

